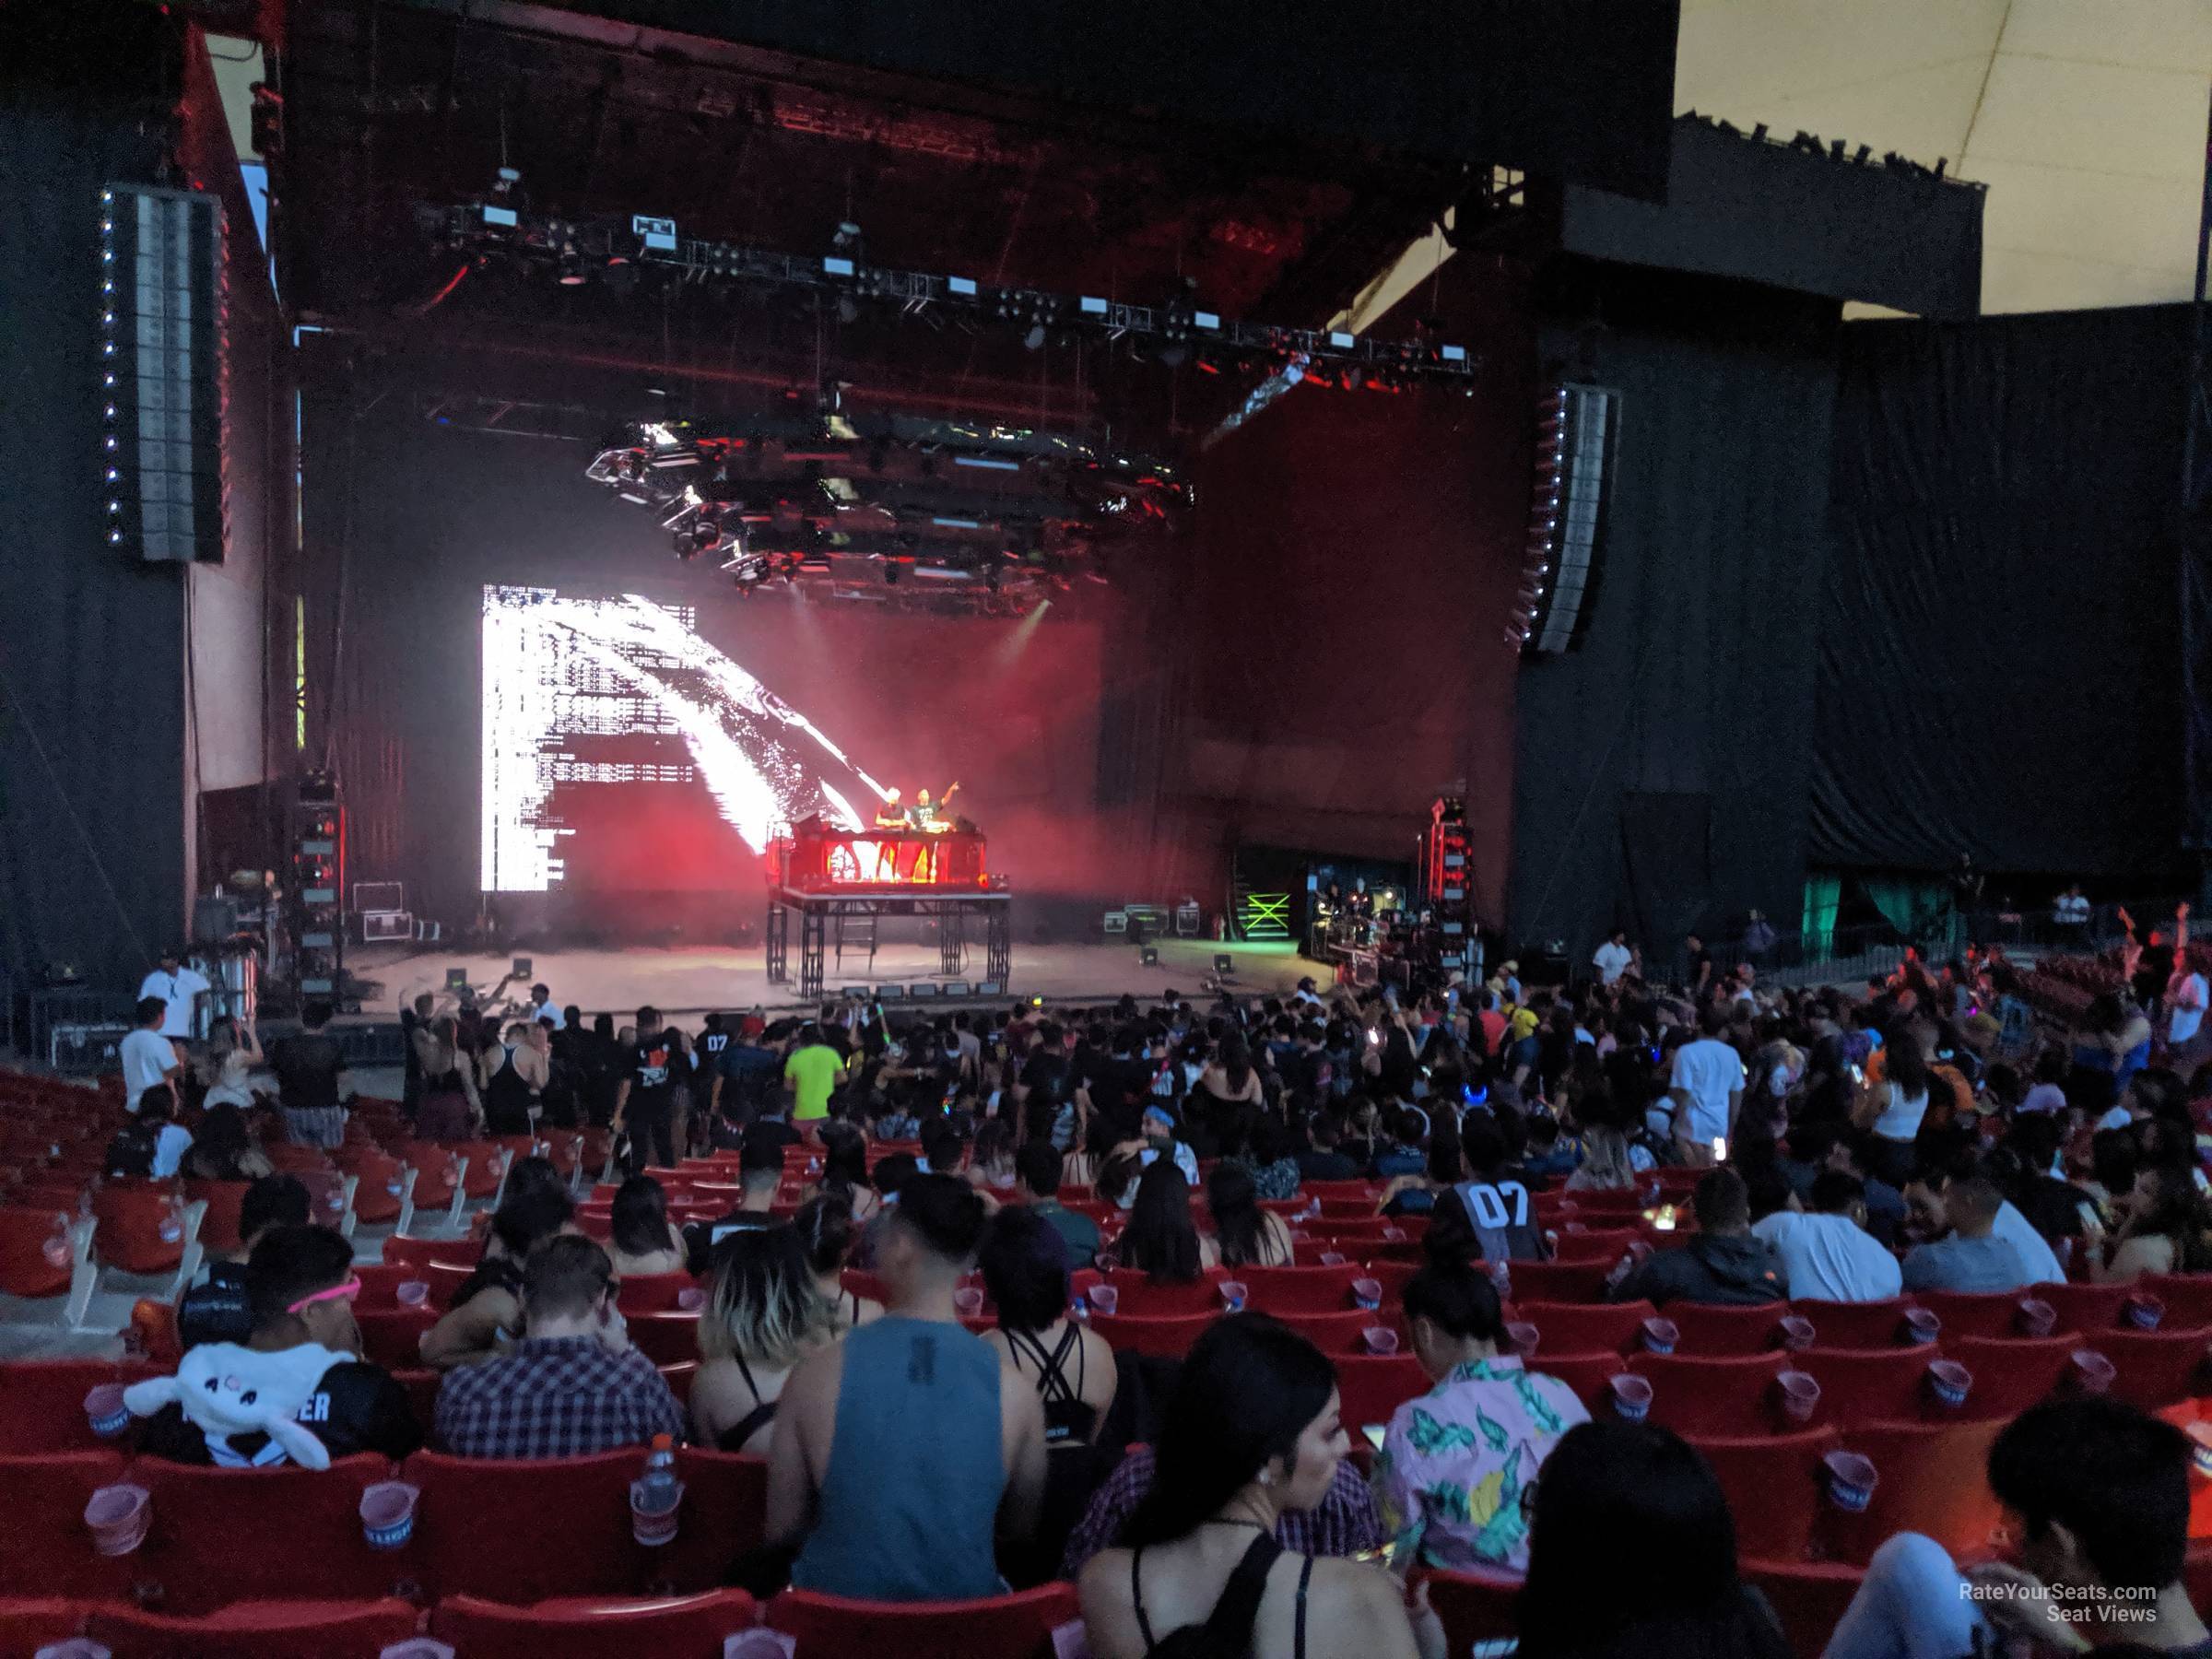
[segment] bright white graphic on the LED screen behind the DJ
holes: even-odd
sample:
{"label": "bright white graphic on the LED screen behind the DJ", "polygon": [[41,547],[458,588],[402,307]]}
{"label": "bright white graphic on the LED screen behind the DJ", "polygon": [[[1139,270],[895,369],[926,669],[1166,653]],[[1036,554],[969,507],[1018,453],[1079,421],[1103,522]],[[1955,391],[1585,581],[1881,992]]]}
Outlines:
{"label": "bright white graphic on the LED screen behind the DJ", "polygon": [[[799,818],[858,830],[883,787],[701,639],[690,606],[484,588],[482,887],[659,887]],[[699,885],[668,880],[668,887]]]}

